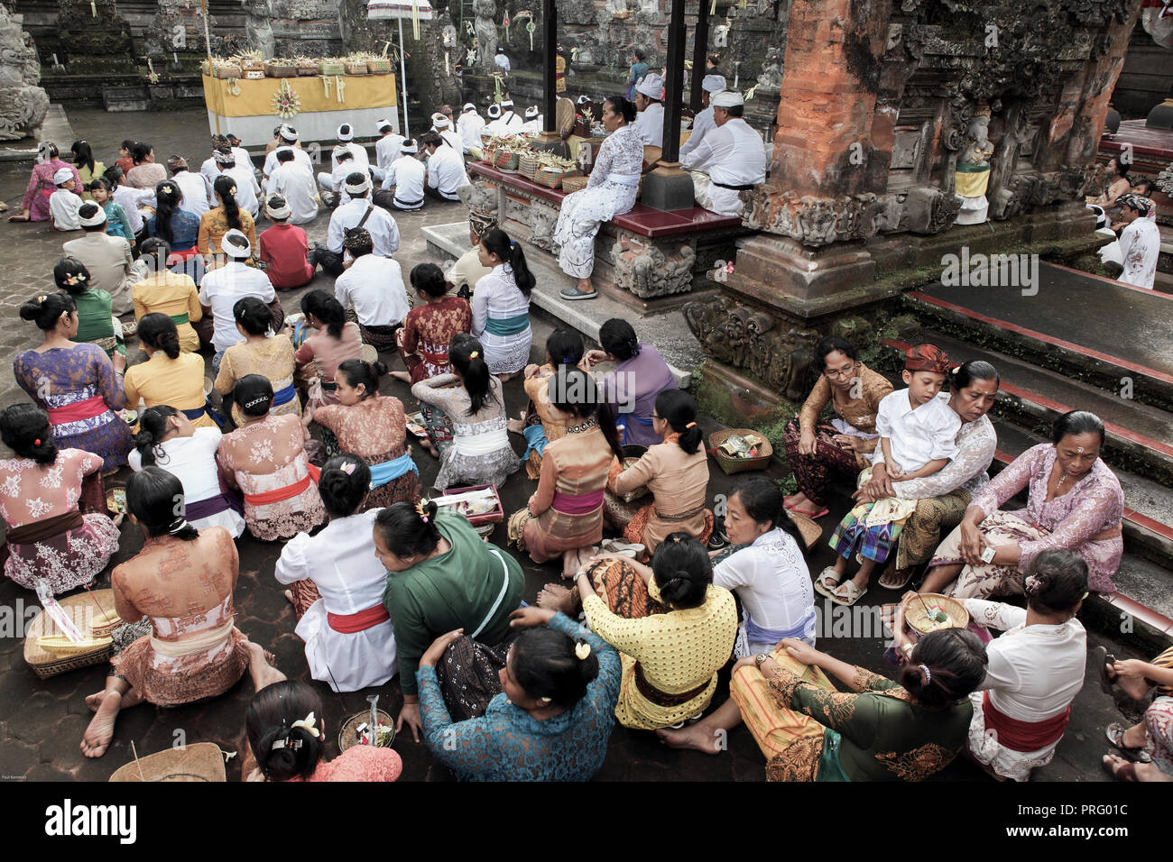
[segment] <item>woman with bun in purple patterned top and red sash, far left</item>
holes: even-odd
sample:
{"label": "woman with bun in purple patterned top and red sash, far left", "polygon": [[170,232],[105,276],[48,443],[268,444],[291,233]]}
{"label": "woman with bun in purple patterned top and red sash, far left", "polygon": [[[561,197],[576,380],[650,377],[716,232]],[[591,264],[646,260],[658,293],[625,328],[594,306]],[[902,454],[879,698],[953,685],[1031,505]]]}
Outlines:
{"label": "woman with bun in purple patterned top and red sash, far left", "polygon": [[13,376],[49,414],[59,449],[84,449],[102,459],[103,473],[127,462],[130,426],[115,410],[127,403],[122,388],[126,357],[97,345],[76,344],[77,305],[68,293],[41,294],[20,306],[45,334],[40,347],[18,353]]}

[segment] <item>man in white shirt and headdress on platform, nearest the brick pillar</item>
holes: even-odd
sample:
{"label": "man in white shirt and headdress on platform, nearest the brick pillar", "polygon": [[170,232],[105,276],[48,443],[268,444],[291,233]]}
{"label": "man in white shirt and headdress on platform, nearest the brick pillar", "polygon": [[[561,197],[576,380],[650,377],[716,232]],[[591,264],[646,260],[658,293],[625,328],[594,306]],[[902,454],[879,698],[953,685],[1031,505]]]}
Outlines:
{"label": "man in white shirt and headdress on platform, nearest the brick pillar", "polygon": [[712,97],[716,129],[682,159],[692,174],[697,203],[721,216],[741,213],[741,192],[766,182],[766,147],[741,118],[745,100],[737,90]]}

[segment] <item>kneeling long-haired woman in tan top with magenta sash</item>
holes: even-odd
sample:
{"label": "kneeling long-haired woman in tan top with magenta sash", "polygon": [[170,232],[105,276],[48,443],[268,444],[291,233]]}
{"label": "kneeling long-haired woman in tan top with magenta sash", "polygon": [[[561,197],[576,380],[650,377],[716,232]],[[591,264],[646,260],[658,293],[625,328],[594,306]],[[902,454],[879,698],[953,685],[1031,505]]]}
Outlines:
{"label": "kneeling long-haired woman in tan top with magenta sash", "polygon": [[603,488],[623,450],[611,409],[586,372],[558,368],[547,398],[567,433],[545,447],[537,490],[509,518],[509,539],[535,563],[561,556],[562,577],[570,578],[582,566],[581,554],[603,541]]}

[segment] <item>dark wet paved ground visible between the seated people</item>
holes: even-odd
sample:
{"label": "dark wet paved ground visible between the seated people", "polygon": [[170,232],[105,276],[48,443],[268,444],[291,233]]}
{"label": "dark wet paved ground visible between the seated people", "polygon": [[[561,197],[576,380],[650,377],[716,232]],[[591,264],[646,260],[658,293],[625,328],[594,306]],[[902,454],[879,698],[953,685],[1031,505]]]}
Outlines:
{"label": "dark wet paved ground visible between the seated people", "polygon": [[[69,117],[79,137],[86,137],[103,161],[113,162],[117,142],[124,137],[150,141],[155,144],[160,161],[171,152],[181,152],[197,167],[206,157],[204,154],[206,138],[203,135],[205,121],[202,111],[128,115],[82,110],[70,111]],[[62,149],[68,149],[72,142],[59,143]],[[18,171],[8,165],[0,165],[0,198],[7,201],[13,209],[19,208],[27,176],[27,169]],[[422,225],[459,220],[463,215],[465,210],[459,204],[438,205],[429,202],[420,213],[398,216],[402,246],[396,257],[404,265],[405,272],[428,259],[425,242],[419,235]],[[327,216],[321,215],[312,225],[306,225],[311,243],[314,239],[324,242],[326,224]],[[264,226],[266,225],[260,225],[262,229]],[[50,270],[60,254],[62,237],[52,233],[43,224],[22,225],[7,222],[0,223],[0,237],[4,239],[0,242],[0,273],[4,273],[0,278],[0,315],[5,320],[5,326],[0,327],[0,375],[2,375],[0,407],[2,407],[25,398],[12,382],[9,360],[13,352],[25,349],[38,341],[34,327],[19,319],[16,308],[20,303],[38,292],[52,290]],[[330,289],[332,284],[328,278],[319,273],[311,286]],[[296,310],[297,300],[303,292],[304,290],[286,292],[283,296],[283,304],[287,311]],[[549,321],[535,321],[536,347],[533,357],[535,361],[541,359],[537,346],[544,344],[549,331]],[[415,402],[406,385],[388,380],[382,388],[385,393],[402,399],[409,410],[415,409]],[[506,386],[506,396],[510,414],[516,415],[524,406],[524,395],[518,381],[511,381]],[[711,421],[704,425],[707,435],[714,426]],[[521,439],[516,436],[514,446],[518,453],[524,448]],[[436,475],[438,464],[418,447],[413,449],[427,488]],[[774,462],[765,475],[781,477],[786,471],[784,466]],[[735,478],[725,476],[713,464],[708,484],[710,496],[716,498],[717,495],[727,494]],[[534,483],[526,478],[524,470],[511,476],[501,489],[506,511],[511,513],[524,505],[534,487]],[[847,498],[834,501],[830,508],[835,514],[845,511]],[[823,518],[821,523],[826,532],[834,528],[829,517]],[[496,529],[491,541],[499,545],[504,544],[503,525]],[[137,529],[124,527],[122,548],[114,563],[131,557],[141,544],[142,538]],[[337,752],[333,728],[338,728],[353,713],[365,710],[366,694],[374,690],[339,695],[333,694],[327,685],[308,679],[303,644],[293,634],[292,608],[284,599],[282,588],[272,578],[280,544],[258,542],[248,534],[238,544],[240,579],[236,592],[237,625],[251,639],[271,650],[277,656],[277,665],[290,678],[306,680],[319,690],[325,701],[326,735],[331,740],[328,753],[333,756]],[[820,544],[812,555],[812,569],[819,571],[830,562],[830,551],[826,544]],[[555,579],[557,572],[552,565],[536,565],[528,558],[522,559],[522,565],[526,571],[524,597],[528,602],[534,602],[542,584]],[[108,571],[99,578],[96,585],[109,585]],[[874,604],[854,609],[852,615],[854,622],[849,630],[842,623],[843,617],[832,616],[833,622],[827,622],[828,617],[823,613],[819,629],[820,646],[839,658],[893,676],[893,668],[881,658],[883,639],[877,605],[894,598],[895,593],[873,589],[866,602]],[[104,781],[114,769],[131,760],[131,740],[140,756],[176,742],[213,741],[225,751],[243,748],[244,712],[252,695],[252,684],[248,677],[224,697],[209,704],[171,710],[144,704],[127,710],[118,718],[114,742],[106,756],[99,760],[83,758],[77,744],[90,713],[82,698],[103,686],[104,668],[90,667],[48,680],[39,679],[23,661],[20,632],[13,629],[12,617],[8,616],[11,610],[19,611],[34,599],[35,596],[8,581],[0,583],[0,779]],[[1092,644],[1101,643],[1094,634],[1090,640]],[[1121,658],[1144,658],[1134,656],[1121,646],[1110,646],[1110,650],[1114,650]],[[378,690],[378,693],[381,695],[380,706],[393,714],[398,713],[401,703],[398,678]],[[723,673],[714,705],[724,701],[726,694],[727,673]],[[1134,718],[1134,710],[1128,708]],[[1103,728],[1110,721],[1121,720],[1120,713],[1110,699],[1101,694],[1094,678],[1090,678],[1085,685],[1072,713],[1071,725],[1055,762],[1036,773],[1036,780],[1098,781],[1106,778],[1099,766],[1099,758],[1107,749]],[[422,745],[411,740],[409,734],[396,739],[395,749],[404,759],[404,780],[450,778],[446,769],[432,761]],[[239,776],[238,759],[229,762],[228,772],[230,780]],[[606,761],[598,778],[612,781],[761,781],[765,779],[765,768],[761,754],[744,728],[730,734],[727,752],[718,756],[706,756],[694,752],[666,749],[651,733],[616,726]],[[990,780],[963,760],[955,762],[938,779]]]}

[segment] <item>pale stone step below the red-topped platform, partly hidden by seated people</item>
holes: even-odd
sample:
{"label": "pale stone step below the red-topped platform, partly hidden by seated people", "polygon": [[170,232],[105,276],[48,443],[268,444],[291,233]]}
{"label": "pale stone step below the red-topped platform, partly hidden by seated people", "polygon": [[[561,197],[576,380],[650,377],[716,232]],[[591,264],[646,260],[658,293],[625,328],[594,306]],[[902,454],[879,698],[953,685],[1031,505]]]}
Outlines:
{"label": "pale stone step below the red-topped platform, partly hidden by seated people", "polygon": [[[434,254],[455,259],[470,247],[468,222],[429,225],[422,228],[421,232],[427,238],[428,251]],[[595,299],[563,299],[558,292],[563,287],[572,287],[576,279],[558,269],[547,252],[529,243],[523,245],[526,263],[537,279],[537,286],[530,294],[534,307],[595,342],[598,341],[599,327],[606,320],[611,318],[629,320],[639,339],[655,344],[663,354],[672,369],[677,386],[683,389],[692,385],[692,369],[704,361],[704,354],[679,311],[639,317],[631,307],[611,299],[605,293]]]}

